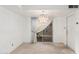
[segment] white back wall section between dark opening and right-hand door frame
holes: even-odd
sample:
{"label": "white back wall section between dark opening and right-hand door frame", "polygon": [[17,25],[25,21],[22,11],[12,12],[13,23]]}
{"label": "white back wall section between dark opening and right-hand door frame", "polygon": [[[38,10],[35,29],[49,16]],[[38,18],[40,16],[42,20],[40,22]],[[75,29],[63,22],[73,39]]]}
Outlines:
{"label": "white back wall section between dark opening and right-hand door frame", "polygon": [[53,19],[53,41],[66,44],[66,18],[55,17]]}

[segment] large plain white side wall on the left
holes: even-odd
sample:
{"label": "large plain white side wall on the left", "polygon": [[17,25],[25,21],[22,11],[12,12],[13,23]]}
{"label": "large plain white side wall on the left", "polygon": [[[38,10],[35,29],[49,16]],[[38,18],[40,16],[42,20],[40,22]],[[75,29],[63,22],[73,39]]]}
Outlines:
{"label": "large plain white side wall on the left", "polygon": [[0,7],[0,53],[10,53],[23,43],[24,22],[19,14]]}

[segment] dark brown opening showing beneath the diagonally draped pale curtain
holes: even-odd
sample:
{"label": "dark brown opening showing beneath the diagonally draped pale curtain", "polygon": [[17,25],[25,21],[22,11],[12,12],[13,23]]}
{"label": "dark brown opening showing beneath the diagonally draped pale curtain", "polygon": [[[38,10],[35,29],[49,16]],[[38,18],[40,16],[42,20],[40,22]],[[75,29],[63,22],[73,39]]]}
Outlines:
{"label": "dark brown opening showing beneath the diagonally draped pale curtain", "polygon": [[37,33],[37,42],[52,42],[52,23],[43,31]]}

